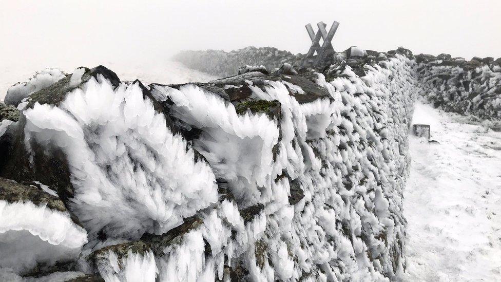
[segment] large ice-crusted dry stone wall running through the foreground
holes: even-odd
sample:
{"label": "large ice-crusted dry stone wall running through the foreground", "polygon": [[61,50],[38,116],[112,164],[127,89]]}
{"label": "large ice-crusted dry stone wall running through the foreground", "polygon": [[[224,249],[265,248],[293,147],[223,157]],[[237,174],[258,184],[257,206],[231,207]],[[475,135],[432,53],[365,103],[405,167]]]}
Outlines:
{"label": "large ice-crusted dry stone wall running through the foreground", "polygon": [[413,58],[369,52],[322,72],[243,68],[184,85],[80,68],[2,123],[0,176],[48,185],[85,228],[65,271],[397,280]]}

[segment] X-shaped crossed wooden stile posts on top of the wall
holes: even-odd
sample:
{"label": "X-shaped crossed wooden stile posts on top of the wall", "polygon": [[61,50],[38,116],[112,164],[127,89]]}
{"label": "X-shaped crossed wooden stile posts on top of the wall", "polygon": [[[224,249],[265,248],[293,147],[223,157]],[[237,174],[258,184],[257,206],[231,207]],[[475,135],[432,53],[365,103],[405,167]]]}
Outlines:
{"label": "X-shaped crossed wooden stile posts on top of the wall", "polygon": [[[327,30],[325,29],[327,25],[323,22],[318,23],[317,26],[318,32],[315,34],[312,25],[306,25],[306,31],[308,32],[308,35],[310,35],[310,39],[312,40],[312,46],[306,54],[305,66],[307,67],[320,65],[326,55],[332,54],[334,52],[331,41],[334,37],[334,34],[336,33],[339,23],[334,22],[329,32],[327,32]],[[320,39],[323,39],[322,46],[320,46]],[[315,52],[317,52],[316,57]]]}

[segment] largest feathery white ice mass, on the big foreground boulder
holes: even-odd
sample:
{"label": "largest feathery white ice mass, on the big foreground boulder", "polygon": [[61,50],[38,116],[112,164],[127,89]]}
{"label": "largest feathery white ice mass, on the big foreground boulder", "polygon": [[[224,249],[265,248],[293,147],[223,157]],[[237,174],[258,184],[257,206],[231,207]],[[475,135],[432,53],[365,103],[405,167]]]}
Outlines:
{"label": "largest feathery white ice mass, on the big foreground boulder", "polygon": [[65,153],[70,210],[94,237],[162,234],[217,201],[211,168],[172,134],[138,84],[113,89],[92,78],[59,106],[35,103],[24,115],[28,151],[35,142]]}

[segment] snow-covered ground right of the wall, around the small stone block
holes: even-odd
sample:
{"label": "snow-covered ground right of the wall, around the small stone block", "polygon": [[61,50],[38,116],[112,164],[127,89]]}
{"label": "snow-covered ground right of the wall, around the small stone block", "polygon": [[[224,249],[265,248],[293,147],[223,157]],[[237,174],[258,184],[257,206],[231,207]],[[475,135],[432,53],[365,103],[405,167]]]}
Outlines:
{"label": "snow-covered ground right of the wall, around the small stone block", "polygon": [[410,139],[410,281],[501,281],[501,133],[460,120],[416,105],[413,123],[440,143]]}

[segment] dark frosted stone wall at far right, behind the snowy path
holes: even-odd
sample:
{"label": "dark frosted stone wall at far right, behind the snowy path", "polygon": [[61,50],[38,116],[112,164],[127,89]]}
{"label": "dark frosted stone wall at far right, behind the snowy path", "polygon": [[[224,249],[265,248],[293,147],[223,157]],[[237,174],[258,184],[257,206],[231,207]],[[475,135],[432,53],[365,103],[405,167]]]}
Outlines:
{"label": "dark frosted stone wall at far right, behind the snowy path", "polygon": [[416,58],[422,95],[435,106],[480,119],[501,120],[501,59],[467,62],[447,55],[422,54]]}

